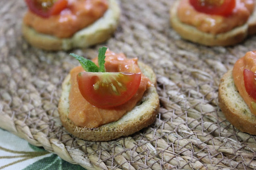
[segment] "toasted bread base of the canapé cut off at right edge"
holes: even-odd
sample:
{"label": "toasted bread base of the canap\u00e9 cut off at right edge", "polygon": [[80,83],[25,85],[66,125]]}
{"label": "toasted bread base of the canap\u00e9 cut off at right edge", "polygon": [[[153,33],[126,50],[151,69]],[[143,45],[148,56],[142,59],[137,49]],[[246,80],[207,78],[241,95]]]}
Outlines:
{"label": "toasted bread base of the canap\u00e9 cut off at right edge", "polygon": [[227,120],[242,132],[256,135],[256,116],[235,87],[232,70],[223,75],[218,91],[219,106]]}

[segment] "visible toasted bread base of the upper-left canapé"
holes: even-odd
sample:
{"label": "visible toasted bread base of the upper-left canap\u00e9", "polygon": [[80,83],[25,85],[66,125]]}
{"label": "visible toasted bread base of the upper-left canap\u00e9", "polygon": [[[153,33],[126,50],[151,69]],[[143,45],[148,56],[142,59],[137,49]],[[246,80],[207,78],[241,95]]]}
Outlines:
{"label": "visible toasted bread base of the upper-left canap\u00e9", "polygon": [[111,37],[115,31],[120,16],[120,8],[116,0],[109,0],[109,9],[103,17],[76,32],[70,38],[58,38],[39,33],[35,29],[22,24],[23,37],[29,44],[44,50],[70,50],[72,48],[86,48],[99,44]]}

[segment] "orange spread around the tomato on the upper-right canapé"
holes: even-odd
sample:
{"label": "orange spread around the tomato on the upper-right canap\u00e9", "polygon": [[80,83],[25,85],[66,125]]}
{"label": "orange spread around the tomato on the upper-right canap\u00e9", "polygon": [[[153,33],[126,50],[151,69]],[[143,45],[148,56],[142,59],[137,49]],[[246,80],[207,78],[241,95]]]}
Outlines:
{"label": "orange spread around the tomato on the upper-right canap\u00e9", "polygon": [[200,31],[216,35],[245,24],[253,10],[254,0],[236,0],[232,14],[223,17],[198,12],[189,0],[180,0],[177,15],[181,22],[192,25]]}

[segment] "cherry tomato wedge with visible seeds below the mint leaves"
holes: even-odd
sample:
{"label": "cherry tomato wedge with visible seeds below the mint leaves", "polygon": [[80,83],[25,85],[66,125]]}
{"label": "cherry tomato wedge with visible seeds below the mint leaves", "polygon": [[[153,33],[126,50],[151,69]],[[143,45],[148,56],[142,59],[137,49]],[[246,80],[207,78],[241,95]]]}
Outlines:
{"label": "cherry tomato wedge with visible seeds below the mint leaves", "polygon": [[82,72],[77,81],[80,93],[90,104],[108,108],[132,98],[141,83],[141,73]]}

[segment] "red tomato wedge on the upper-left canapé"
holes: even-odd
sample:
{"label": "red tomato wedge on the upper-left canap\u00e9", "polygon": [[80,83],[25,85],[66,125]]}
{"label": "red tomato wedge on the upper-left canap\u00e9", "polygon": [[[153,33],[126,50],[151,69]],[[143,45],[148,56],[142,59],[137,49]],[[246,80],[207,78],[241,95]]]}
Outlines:
{"label": "red tomato wedge on the upper-left canap\u00e9", "polygon": [[48,18],[51,15],[58,15],[67,8],[67,0],[25,0],[29,10],[40,17]]}

